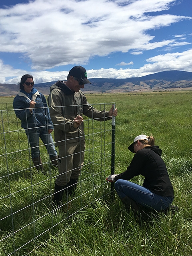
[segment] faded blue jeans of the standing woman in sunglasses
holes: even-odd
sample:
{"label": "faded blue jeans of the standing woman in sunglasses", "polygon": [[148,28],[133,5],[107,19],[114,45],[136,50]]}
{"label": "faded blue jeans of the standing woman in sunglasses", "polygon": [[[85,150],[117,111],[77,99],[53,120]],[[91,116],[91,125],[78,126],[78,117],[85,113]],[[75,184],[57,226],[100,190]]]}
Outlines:
{"label": "faded blue jeans of the standing woman in sunglasses", "polygon": [[39,138],[41,138],[42,142],[46,146],[50,158],[57,156],[57,151],[55,149],[52,135],[48,134],[48,130],[46,127],[28,129],[25,130],[25,132],[31,147],[32,158],[37,158],[38,156],[40,156]]}

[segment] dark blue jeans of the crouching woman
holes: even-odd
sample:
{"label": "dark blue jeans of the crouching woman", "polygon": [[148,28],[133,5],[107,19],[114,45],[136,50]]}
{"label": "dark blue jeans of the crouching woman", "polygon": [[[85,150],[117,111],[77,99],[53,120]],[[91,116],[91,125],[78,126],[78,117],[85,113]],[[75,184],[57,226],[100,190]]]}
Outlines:
{"label": "dark blue jeans of the crouching woman", "polygon": [[120,198],[128,196],[138,202],[138,204],[156,211],[168,208],[173,202],[173,197],[171,196],[159,196],[148,188],[128,180],[117,180],[114,186]]}

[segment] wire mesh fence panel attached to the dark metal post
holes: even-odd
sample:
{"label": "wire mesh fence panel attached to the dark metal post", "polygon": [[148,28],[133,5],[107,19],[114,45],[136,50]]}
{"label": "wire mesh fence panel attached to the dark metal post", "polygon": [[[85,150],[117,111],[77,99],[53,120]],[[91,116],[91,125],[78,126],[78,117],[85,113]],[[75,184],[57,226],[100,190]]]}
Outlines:
{"label": "wire mesh fence panel attached to the dark metal post", "polygon": [[[111,104],[92,106],[101,111]],[[2,255],[28,255],[49,232],[55,234],[62,222],[111,192],[106,177],[114,171],[115,125],[114,118],[98,122],[84,117],[86,148],[82,149],[84,164],[76,193],[64,191],[60,208],[55,208],[52,198],[59,173],[50,160],[48,144],[40,140],[43,169],[37,170],[26,136],[30,128],[21,128],[9,107],[0,110],[0,250]]]}

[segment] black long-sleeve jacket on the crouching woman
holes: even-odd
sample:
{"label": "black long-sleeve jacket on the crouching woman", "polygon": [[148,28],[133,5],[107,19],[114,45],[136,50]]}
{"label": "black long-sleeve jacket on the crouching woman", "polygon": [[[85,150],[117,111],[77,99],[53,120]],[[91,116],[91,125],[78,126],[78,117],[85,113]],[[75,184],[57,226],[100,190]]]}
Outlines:
{"label": "black long-sleeve jacket on the crouching woman", "polygon": [[125,172],[118,174],[115,181],[130,180],[134,176],[145,177],[143,186],[160,196],[174,197],[173,187],[166,165],[161,158],[162,150],[158,146],[148,146],[134,155]]}

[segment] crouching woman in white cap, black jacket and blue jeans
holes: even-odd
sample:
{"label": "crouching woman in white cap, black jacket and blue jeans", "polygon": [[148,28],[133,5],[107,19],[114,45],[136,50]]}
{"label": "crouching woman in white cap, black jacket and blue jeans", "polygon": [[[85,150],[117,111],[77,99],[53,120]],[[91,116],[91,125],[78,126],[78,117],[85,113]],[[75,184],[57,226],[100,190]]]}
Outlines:
{"label": "crouching woman in white cap, black jacket and blue jeans", "polygon": [[[173,187],[166,165],[161,158],[162,150],[155,146],[152,136],[139,135],[128,149],[135,153],[125,172],[112,174],[107,180],[114,187],[123,204],[134,215],[141,213],[141,206],[156,211],[166,210],[174,199]],[[134,176],[144,176],[143,186],[130,182]]]}

